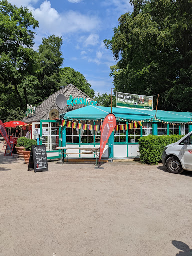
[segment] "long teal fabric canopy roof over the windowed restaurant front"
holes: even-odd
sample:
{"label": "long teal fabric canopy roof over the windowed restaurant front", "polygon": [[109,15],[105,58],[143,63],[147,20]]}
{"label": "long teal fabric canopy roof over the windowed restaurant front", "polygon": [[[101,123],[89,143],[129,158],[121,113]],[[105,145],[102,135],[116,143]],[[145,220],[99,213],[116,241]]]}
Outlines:
{"label": "long teal fabric canopy roof over the windowed restaurant front", "polygon": [[[103,120],[108,113],[111,113],[111,107],[89,105],[63,113],[60,115],[60,118],[65,120]],[[116,116],[116,119],[120,121],[147,121],[153,119],[155,122],[156,110],[150,111],[113,107],[112,113]],[[156,118],[157,120],[166,122],[190,122],[192,113],[157,110]]]}

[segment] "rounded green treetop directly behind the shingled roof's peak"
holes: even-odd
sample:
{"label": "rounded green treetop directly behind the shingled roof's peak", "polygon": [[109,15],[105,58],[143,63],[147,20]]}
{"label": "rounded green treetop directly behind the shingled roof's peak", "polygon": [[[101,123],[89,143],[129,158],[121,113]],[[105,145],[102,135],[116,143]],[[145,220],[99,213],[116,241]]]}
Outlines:
{"label": "rounded green treetop directly behind the shingled roof's peak", "polygon": [[68,85],[69,83],[82,90],[89,97],[94,96],[94,90],[83,74],[71,67],[64,67],[60,70],[60,85]]}

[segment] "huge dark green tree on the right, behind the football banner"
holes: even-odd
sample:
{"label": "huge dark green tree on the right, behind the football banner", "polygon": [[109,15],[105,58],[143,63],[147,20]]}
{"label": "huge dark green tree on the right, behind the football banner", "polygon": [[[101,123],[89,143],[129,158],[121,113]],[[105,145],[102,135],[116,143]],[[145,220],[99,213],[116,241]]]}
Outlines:
{"label": "huge dark green tree on the right, behind the football banner", "polygon": [[[183,111],[192,111],[192,1],[131,0],[133,13],[119,18],[111,40],[118,60],[111,67],[115,89],[160,94]],[[160,100],[161,109],[176,110]]]}

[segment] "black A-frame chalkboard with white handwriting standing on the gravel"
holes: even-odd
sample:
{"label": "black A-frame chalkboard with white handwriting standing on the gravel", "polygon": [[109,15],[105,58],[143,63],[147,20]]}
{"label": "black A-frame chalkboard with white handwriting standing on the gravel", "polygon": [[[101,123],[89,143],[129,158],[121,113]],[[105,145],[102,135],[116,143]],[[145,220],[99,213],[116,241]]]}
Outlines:
{"label": "black A-frame chalkboard with white handwriting standing on the gravel", "polygon": [[34,172],[48,171],[48,162],[45,145],[32,146],[28,170],[34,169]]}

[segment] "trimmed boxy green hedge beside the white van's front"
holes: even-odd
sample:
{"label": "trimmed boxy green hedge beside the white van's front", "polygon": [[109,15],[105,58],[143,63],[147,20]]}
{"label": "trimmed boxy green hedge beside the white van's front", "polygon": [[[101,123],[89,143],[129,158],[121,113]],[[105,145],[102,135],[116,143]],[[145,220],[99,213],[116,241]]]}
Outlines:
{"label": "trimmed boxy green hedge beside the white van's front", "polygon": [[148,135],[139,139],[140,160],[142,163],[157,164],[162,162],[164,147],[177,142],[181,135]]}

